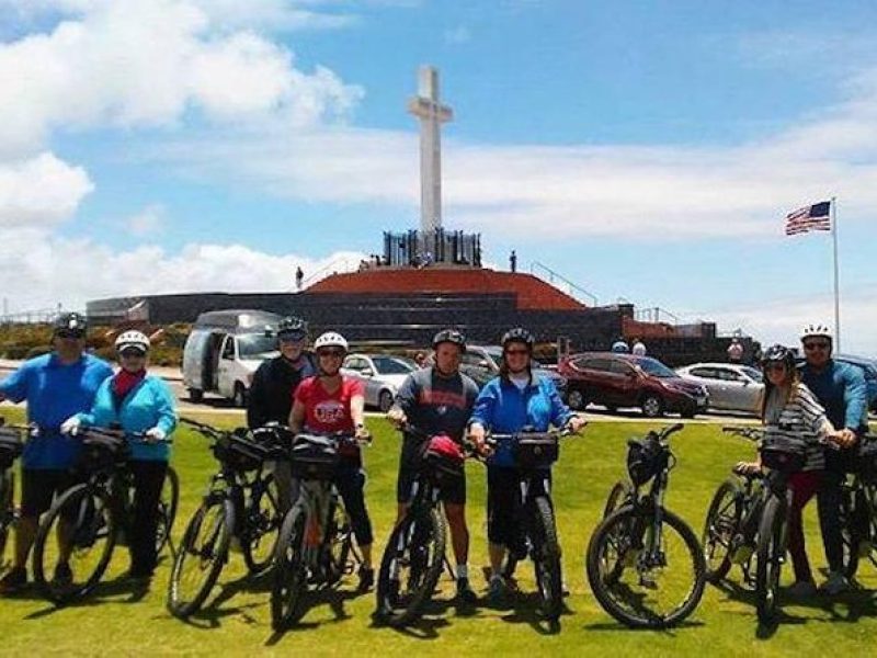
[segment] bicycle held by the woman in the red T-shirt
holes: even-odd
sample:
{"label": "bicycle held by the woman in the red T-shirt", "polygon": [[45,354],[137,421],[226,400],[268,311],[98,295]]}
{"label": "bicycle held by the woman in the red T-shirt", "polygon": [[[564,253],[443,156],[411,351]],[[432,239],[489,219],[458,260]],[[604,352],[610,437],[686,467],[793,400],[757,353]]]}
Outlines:
{"label": "bicycle held by the woman in the red T-shirt", "polygon": [[369,443],[338,434],[299,433],[288,454],[298,498],[286,513],[274,554],[271,622],[275,631],[292,626],[305,613],[306,594],[337,585],[362,561],[350,519],[333,478],[339,447]]}

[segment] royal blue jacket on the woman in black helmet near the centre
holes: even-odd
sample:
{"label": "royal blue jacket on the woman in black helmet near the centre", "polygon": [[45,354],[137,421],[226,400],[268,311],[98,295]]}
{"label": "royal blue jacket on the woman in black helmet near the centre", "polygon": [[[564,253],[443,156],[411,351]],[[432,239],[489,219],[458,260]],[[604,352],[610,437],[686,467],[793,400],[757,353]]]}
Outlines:
{"label": "royal blue jacket on the woman in black helmet near the centre", "polygon": [[[524,390],[506,378],[494,377],[478,394],[470,422],[498,434],[511,434],[524,428],[536,432],[545,432],[549,426],[560,428],[572,416],[554,383],[546,377],[533,375]],[[500,442],[487,463],[490,466],[514,466],[510,443]]]}

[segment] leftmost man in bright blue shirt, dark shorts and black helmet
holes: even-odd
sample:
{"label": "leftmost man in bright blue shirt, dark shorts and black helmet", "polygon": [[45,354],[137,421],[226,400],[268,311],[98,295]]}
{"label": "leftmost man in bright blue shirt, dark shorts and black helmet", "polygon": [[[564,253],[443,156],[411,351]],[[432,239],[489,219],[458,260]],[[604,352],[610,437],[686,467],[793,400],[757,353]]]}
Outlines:
{"label": "leftmost man in bright blue shirt, dark shorts and black helmet", "polygon": [[[60,426],[73,413],[88,411],[101,383],[113,374],[106,362],[84,353],[86,318],[61,315],[55,322],[53,352],[24,362],[0,382],[0,400],[27,402],[27,420],[38,427],[22,455],[21,519],[15,532],[12,569],[0,580],[0,593],[14,593],[27,583],[27,554],[39,515],[56,494],[71,484],[70,468],[79,441],[61,433]],[[64,537],[59,537],[64,541]],[[66,567],[66,569],[65,569]],[[69,578],[69,567],[58,565],[55,578]]]}

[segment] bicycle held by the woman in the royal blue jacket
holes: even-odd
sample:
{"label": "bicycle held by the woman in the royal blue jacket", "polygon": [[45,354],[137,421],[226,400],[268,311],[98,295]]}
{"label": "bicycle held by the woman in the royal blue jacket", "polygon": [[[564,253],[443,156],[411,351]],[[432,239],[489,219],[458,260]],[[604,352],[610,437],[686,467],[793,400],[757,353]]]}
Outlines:
{"label": "bicycle held by the woman in the royal blue jacket", "polygon": [[491,434],[493,442],[511,441],[519,489],[514,504],[520,520],[520,536],[510,547],[504,576],[511,578],[521,559],[529,556],[536,575],[542,616],[551,624],[560,619],[563,583],[560,569],[560,543],[557,537],[551,501],[550,467],[559,456],[559,441],[570,436],[567,429],[546,432],[522,431]]}

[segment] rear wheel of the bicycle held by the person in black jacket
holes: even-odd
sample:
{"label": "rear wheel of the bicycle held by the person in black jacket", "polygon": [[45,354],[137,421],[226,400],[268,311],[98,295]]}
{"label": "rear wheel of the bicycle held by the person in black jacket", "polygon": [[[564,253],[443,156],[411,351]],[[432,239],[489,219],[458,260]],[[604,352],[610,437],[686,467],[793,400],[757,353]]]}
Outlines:
{"label": "rear wheel of the bicycle held by the person in black jacket", "polygon": [[[250,498],[243,511],[240,547],[243,561],[252,575],[261,574],[271,566],[283,524],[280,494],[274,476],[269,474],[262,483],[264,488],[260,488]],[[262,507],[263,504],[265,507]]]}

